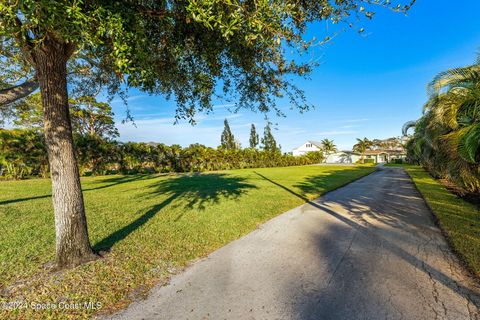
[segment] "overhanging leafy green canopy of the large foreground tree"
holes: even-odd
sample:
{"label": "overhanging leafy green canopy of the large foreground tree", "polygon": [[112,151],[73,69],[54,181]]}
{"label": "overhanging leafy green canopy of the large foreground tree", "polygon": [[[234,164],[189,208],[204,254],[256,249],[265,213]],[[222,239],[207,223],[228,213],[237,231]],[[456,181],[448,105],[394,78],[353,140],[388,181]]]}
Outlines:
{"label": "overhanging leafy green canopy of the large foreground tree", "polygon": [[2,1],[0,61],[11,67],[2,69],[0,84],[33,76],[31,49],[54,39],[75,49],[59,57],[69,60],[73,93],[107,86],[115,94],[126,84],[174,95],[177,117],[192,122],[211,109],[219,87],[225,98],[238,98],[237,107],[281,112],[277,98],[285,96],[305,110],[303,92],[287,76],[306,76],[313,64],[290,57],[329,38],[303,39],[308,25],[353,26],[372,18],[374,5],[405,12],[414,1],[405,2],[372,0],[369,10],[360,0]]}

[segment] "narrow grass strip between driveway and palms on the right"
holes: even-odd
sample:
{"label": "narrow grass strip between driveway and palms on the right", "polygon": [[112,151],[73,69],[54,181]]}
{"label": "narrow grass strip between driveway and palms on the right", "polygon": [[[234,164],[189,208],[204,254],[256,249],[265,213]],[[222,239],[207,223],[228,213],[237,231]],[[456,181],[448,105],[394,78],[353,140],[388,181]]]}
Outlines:
{"label": "narrow grass strip between driveway and palms on the right", "polygon": [[480,209],[449,192],[423,168],[403,167],[435,214],[453,250],[480,277]]}

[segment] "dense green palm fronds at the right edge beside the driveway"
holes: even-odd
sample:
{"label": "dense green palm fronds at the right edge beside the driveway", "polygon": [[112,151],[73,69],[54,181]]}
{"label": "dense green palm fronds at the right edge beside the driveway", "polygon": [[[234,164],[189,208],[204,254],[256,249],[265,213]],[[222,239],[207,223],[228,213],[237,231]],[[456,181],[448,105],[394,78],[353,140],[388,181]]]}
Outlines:
{"label": "dense green palm fronds at the right edge beside the driveway", "polygon": [[479,61],[433,79],[424,115],[407,144],[410,162],[467,192],[480,192]]}

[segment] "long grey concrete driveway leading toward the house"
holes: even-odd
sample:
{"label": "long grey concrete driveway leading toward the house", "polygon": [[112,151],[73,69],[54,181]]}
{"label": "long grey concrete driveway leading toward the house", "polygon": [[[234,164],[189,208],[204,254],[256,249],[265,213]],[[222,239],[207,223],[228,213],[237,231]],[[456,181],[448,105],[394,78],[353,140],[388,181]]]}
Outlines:
{"label": "long grey concrete driveway leading toward the house", "polygon": [[464,272],[401,168],[282,214],[115,319],[480,319]]}

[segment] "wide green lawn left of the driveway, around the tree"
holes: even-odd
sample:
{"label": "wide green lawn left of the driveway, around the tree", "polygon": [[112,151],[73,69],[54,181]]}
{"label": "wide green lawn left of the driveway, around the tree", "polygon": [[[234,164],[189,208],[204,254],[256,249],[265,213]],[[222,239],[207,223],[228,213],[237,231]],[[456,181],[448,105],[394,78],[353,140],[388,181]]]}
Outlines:
{"label": "wide green lawn left of the driveway, around the tree", "polygon": [[[101,303],[109,313],[188,262],[276,215],[373,172],[303,166],[82,179],[91,242],[103,259],[52,273],[50,181],[0,183],[1,301]],[[3,290],[2,290],[3,289]],[[2,310],[0,318],[87,318],[93,309]]]}

